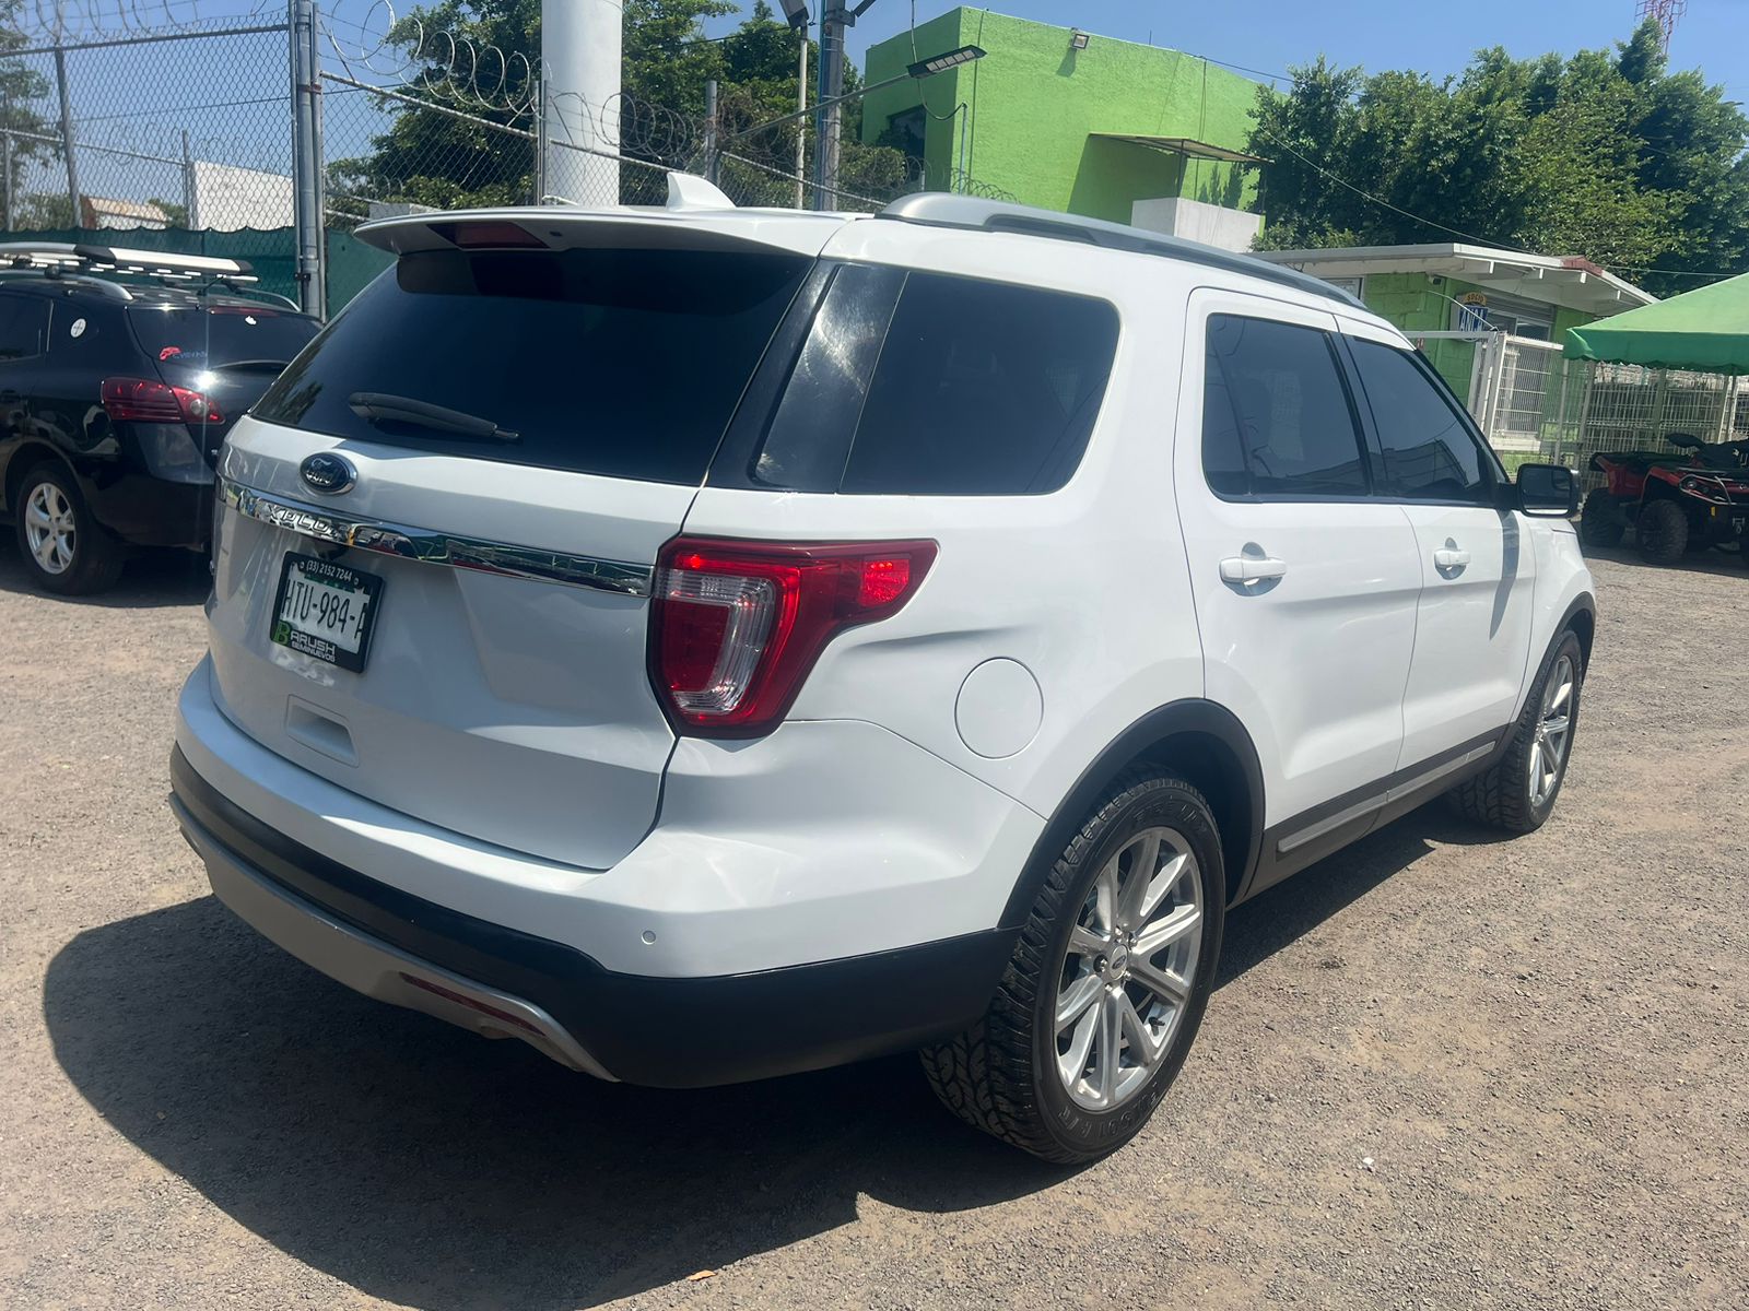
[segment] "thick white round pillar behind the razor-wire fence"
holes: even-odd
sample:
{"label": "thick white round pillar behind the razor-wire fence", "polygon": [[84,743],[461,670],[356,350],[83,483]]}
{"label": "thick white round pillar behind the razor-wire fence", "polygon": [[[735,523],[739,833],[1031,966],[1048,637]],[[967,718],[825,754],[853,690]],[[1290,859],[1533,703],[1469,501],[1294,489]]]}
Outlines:
{"label": "thick white round pillar behind the razor-wire fence", "polygon": [[540,2],[546,189],[619,205],[621,0]]}

